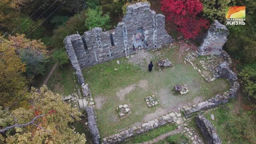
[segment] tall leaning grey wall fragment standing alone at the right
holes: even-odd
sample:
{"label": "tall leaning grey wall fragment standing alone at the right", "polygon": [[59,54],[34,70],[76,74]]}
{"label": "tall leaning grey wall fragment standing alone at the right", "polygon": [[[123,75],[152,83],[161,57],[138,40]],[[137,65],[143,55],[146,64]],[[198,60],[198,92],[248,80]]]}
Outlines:
{"label": "tall leaning grey wall fragment standing alone at the right", "polygon": [[204,56],[208,54],[220,55],[222,46],[227,42],[229,31],[218,20],[214,20],[210,26],[203,43],[198,48],[198,55]]}

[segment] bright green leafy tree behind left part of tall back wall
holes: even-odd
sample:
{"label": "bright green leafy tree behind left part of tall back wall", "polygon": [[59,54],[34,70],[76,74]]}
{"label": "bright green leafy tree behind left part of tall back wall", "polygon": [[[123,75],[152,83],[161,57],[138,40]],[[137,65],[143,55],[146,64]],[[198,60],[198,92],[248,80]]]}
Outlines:
{"label": "bright green leafy tree behind left part of tall back wall", "polygon": [[95,27],[110,28],[110,16],[102,12],[102,7],[96,7],[96,9],[88,8],[86,11],[87,17],[85,20],[85,26],[89,29]]}

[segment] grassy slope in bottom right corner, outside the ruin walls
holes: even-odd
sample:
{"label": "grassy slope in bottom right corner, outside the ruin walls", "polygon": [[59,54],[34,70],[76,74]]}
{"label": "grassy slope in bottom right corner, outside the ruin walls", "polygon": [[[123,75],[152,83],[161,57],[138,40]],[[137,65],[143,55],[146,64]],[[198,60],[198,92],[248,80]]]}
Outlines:
{"label": "grassy slope in bottom right corner, outside the ruin walls", "polygon": [[[223,105],[216,111],[205,114],[216,128],[223,144],[255,144],[256,123],[253,116],[242,108],[234,112],[235,100]],[[214,114],[215,120],[210,118]]]}

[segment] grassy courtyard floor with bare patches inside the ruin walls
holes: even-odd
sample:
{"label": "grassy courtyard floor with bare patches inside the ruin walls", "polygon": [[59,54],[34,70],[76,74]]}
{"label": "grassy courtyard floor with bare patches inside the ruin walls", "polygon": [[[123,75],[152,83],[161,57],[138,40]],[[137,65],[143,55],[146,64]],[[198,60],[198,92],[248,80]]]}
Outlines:
{"label": "grassy courtyard floor with bare patches inside the ruin walls", "polygon": [[[112,60],[83,70],[96,103],[97,124],[102,138],[228,90],[230,86],[226,80],[208,83],[192,66],[185,65],[185,54],[179,58],[178,49],[178,46],[171,46],[147,52],[148,57],[138,57],[140,64],[120,58],[117,59],[120,64]],[[168,58],[172,67],[159,71],[156,61],[160,58]],[[152,72],[145,70],[149,60],[154,64]],[[175,94],[172,92],[175,84],[186,84],[190,92],[182,96]],[[148,108],[144,98],[153,94],[158,105]],[[116,107],[121,104],[128,104],[132,113],[120,118]]]}

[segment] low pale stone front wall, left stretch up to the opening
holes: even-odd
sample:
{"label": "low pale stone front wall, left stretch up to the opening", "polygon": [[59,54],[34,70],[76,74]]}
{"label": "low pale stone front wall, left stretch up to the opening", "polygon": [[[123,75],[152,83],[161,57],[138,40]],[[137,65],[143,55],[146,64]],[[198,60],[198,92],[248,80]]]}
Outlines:
{"label": "low pale stone front wall, left stretch up to the opening", "polygon": [[[172,112],[170,114],[166,114],[166,115],[161,116],[152,121],[145,122],[139,127],[134,126],[127,130],[124,130],[118,134],[114,134],[112,136],[104,138],[102,143],[103,144],[118,144],[118,143],[124,141],[126,138],[130,138],[132,136],[135,136],[136,134],[141,134],[143,132],[147,132],[154,128],[158,128],[159,126],[163,126],[168,123],[173,123],[175,120],[178,119],[175,116],[176,116],[176,114],[174,114],[174,112]],[[181,116],[181,115],[179,114],[179,116]]]}

